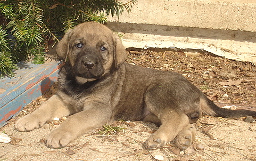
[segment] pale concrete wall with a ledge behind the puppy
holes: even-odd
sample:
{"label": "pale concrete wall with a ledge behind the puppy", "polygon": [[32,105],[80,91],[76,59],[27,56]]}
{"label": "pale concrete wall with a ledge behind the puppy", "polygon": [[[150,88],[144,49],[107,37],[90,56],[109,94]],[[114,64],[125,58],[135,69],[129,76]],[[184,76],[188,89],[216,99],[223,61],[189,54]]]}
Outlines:
{"label": "pale concrete wall with a ledge behind the puppy", "polygon": [[108,21],[127,48],[203,49],[256,63],[256,0],[138,0]]}

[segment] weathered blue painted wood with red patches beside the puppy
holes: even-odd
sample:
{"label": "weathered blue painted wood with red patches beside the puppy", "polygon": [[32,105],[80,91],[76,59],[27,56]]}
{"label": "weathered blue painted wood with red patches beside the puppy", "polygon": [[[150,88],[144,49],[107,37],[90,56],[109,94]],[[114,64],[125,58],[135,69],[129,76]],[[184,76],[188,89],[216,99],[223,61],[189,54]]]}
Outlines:
{"label": "weathered blue painted wood with red patches beside the puppy", "polygon": [[57,80],[60,65],[54,60],[45,64],[22,62],[15,78],[0,80],[0,127],[50,88]]}

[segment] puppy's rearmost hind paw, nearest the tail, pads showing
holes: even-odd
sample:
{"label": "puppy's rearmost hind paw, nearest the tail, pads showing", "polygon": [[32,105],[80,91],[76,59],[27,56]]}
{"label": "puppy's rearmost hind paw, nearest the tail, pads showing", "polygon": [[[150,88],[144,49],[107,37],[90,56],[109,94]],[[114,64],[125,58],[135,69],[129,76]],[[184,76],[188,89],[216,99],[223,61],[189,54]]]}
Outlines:
{"label": "puppy's rearmost hind paw, nearest the tail, pads showing", "polygon": [[185,150],[192,144],[195,139],[196,129],[193,125],[187,126],[176,137],[176,146],[180,150]]}

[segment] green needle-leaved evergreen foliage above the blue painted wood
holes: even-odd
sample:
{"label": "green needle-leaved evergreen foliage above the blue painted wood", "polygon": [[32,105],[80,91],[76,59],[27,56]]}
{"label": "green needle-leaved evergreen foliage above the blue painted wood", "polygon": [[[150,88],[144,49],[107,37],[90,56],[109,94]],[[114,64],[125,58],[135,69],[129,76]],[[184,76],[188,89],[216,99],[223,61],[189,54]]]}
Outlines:
{"label": "green needle-leaved evergreen foliage above the blue painted wood", "polygon": [[0,78],[13,77],[16,63],[44,63],[45,46],[75,25],[130,11],[136,0],[0,0]]}

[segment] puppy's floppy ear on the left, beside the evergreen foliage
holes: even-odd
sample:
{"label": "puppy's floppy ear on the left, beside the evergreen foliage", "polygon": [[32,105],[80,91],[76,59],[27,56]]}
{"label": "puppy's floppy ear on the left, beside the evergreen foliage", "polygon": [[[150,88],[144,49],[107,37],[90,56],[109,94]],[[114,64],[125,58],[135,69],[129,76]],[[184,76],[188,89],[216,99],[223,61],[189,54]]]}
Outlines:
{"label": "puppy's floppy ear on the left, beside the evergreen foliage", "polygon": [[57,48],[56,48],[56,52],[58,57],[64,61],[64,63],[66,63],[66,59],[67,59],[67,55],[68,55],[68,48],[69,48],[69,44],[68,44],[68,40],[69,37],[71,35],[71,31],[72,29],[68,30],[65,35],[63,36],[63,38],[58,42]]}

